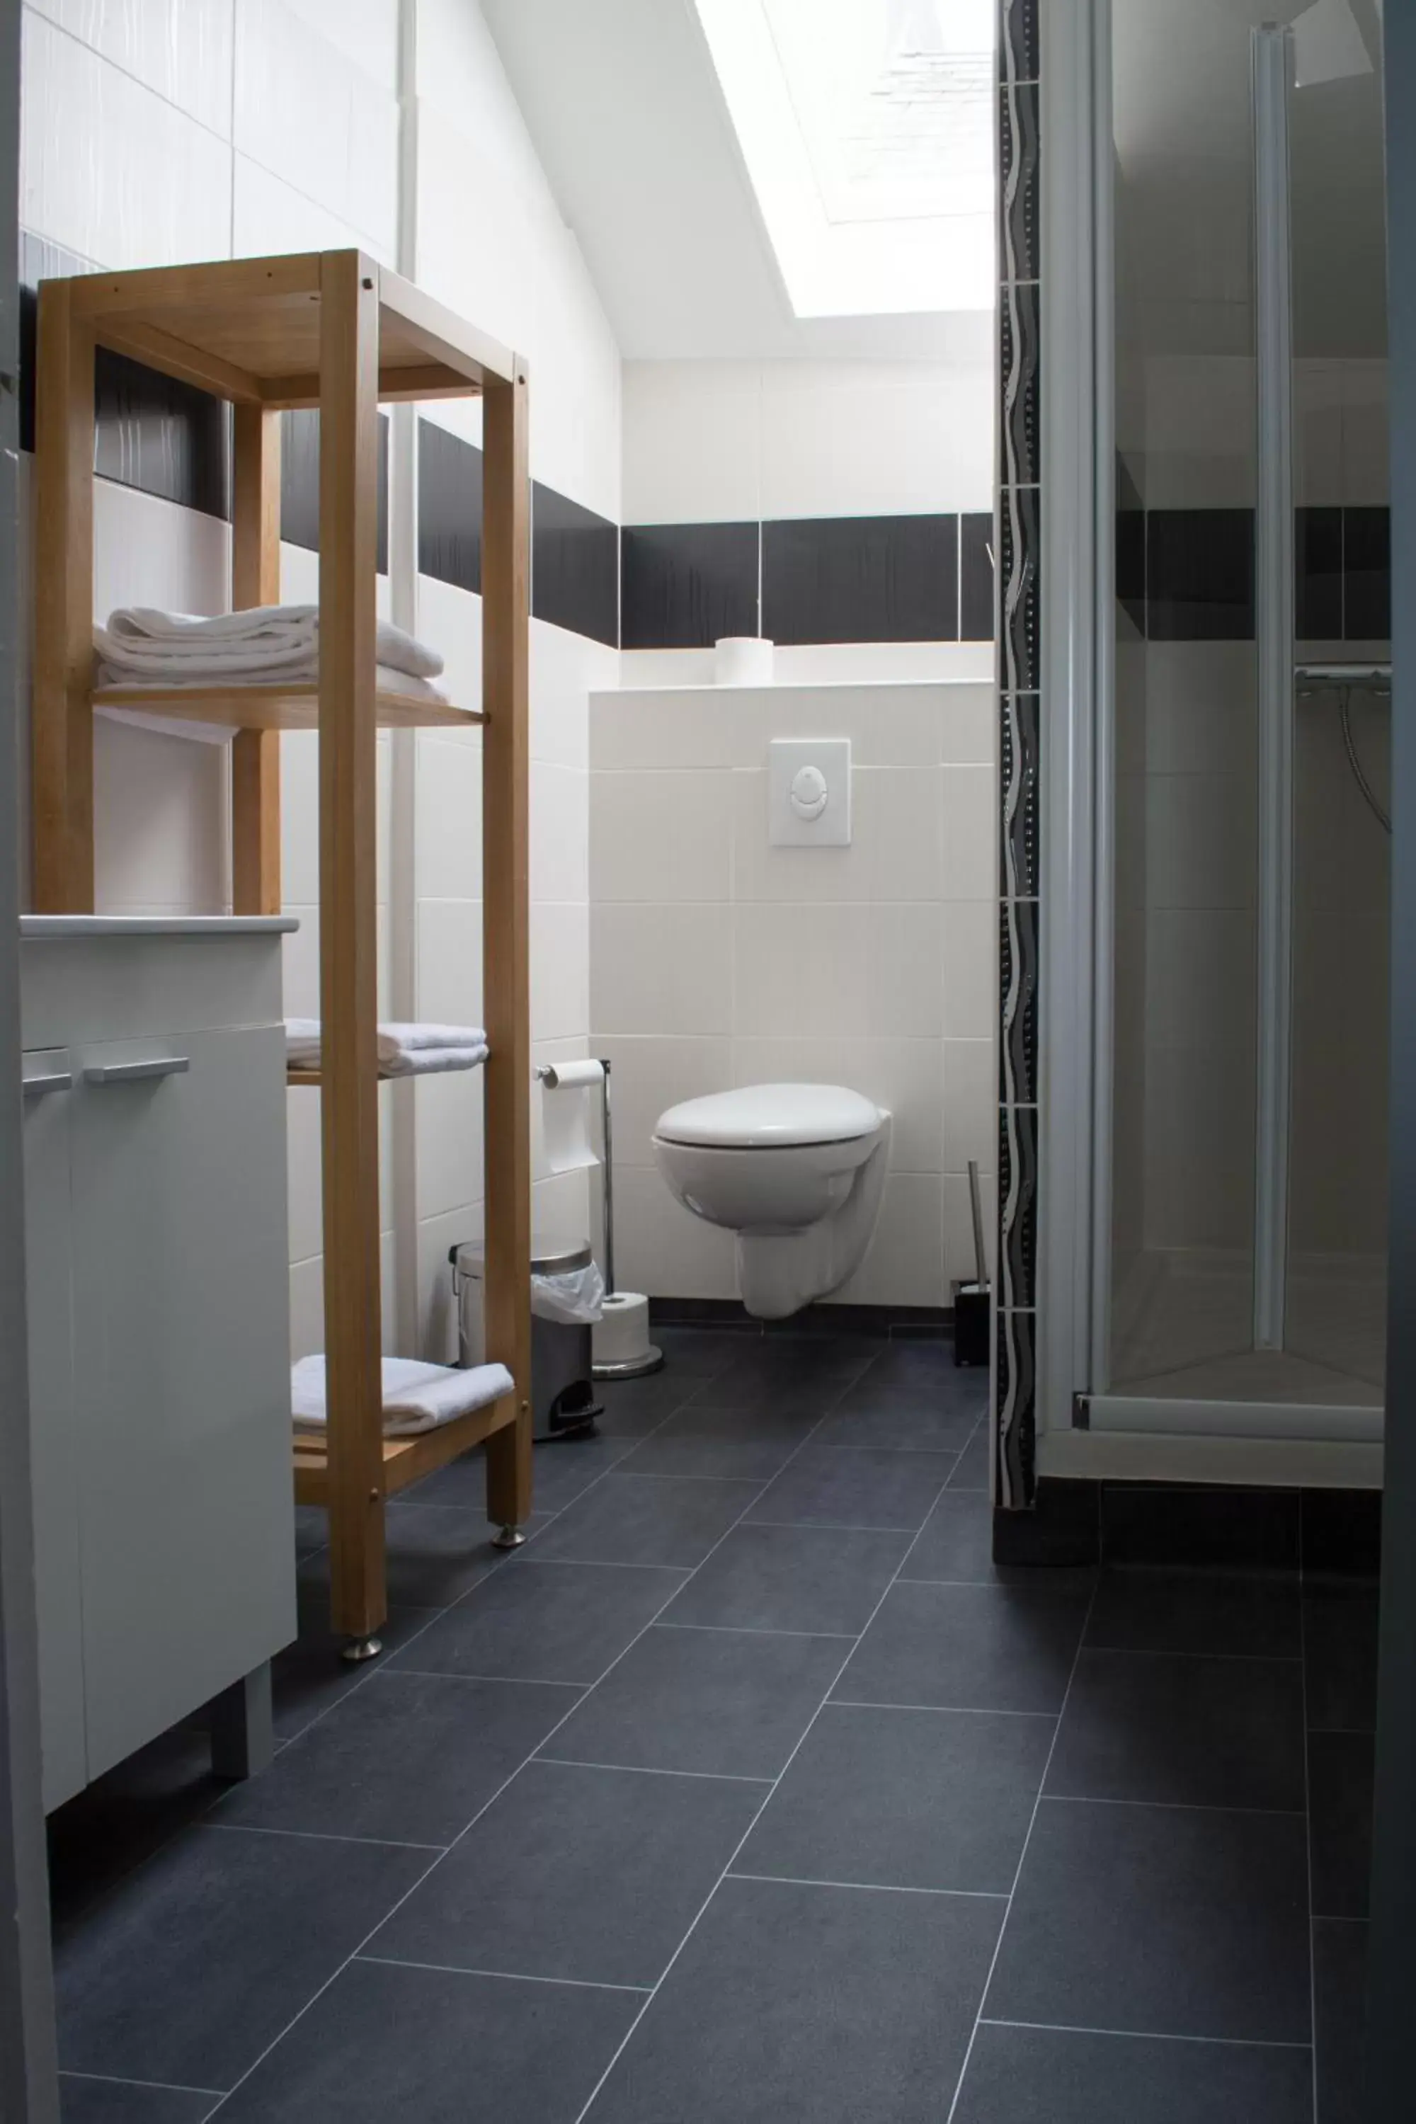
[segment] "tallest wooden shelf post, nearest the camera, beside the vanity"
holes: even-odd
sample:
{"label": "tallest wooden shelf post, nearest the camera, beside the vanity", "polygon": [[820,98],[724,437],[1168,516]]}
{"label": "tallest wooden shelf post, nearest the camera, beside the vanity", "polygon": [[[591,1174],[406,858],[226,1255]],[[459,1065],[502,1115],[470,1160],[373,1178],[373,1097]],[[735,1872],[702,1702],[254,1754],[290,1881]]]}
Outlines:
{"label": "tallest wooden shelf post, nearest the camera, beside the vanity", "polygon": [[378,272],[321,261],[321,1060],[331,1621],[384,1623],[378,1262]]}

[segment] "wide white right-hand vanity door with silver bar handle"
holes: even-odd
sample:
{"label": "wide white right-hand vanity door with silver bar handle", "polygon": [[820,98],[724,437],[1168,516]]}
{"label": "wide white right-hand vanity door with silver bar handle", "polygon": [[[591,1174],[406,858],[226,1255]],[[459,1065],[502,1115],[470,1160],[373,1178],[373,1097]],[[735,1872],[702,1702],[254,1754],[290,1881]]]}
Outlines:
{"label": "wide white right-hand vanity door with silver bar handle", "polygon": [[98,1776],[295,1635],[284,1034],[74,1047],[74,1077]]}

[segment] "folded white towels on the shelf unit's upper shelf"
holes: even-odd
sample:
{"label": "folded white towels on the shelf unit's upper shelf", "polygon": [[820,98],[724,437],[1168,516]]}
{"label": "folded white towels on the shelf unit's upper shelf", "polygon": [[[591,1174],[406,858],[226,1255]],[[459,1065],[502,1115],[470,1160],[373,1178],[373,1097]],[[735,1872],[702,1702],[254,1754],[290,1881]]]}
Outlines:
{"label": "folded white towels on the shelf unit's upper shelf", "polygon": [[[310,686],[321,675],[318,605],[251,605],[202,620],[187,612],[121,605],[93,629],[100,686]],[[446,701],[437,650],[378,622],[378,684]]]}

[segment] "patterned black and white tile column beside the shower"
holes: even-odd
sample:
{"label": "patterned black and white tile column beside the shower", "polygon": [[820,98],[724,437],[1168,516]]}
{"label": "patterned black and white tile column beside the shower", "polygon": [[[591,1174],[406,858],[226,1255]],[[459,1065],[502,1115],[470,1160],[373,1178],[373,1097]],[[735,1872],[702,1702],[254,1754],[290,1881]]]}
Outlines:
{"label": "patterned black and white tile column beside the shower", "polygon": [[1038,0],[1000,0],[1000,1145],[996,1502],[1034,1493],[1040,729]]}

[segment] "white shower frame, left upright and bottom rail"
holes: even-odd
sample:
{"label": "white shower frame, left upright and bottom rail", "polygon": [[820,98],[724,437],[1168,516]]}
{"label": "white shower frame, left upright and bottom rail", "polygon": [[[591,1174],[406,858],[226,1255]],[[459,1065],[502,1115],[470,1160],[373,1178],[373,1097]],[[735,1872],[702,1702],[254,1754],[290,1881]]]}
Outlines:
{"label": "white shower frame, left upright and bottom rail", "polygon": [[[1110,0],[1042,30],[1036,1472],[1369,1487],[1382,1410],[1110,1391],[1115,130]],[[1289,644],[1289,663],[1293,644]]]}

